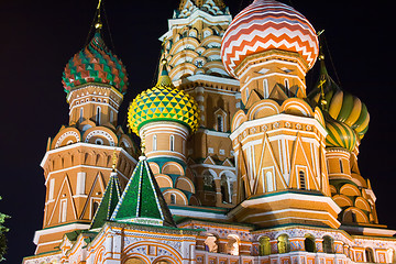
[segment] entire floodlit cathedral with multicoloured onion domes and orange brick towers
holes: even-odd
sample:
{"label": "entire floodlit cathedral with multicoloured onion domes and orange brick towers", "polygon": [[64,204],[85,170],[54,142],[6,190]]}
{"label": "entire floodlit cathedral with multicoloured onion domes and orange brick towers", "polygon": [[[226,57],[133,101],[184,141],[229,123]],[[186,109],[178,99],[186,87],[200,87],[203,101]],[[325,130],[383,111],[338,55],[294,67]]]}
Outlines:
{"label": "entire floodlit cathedral with multicoloured onion domes and orange brick towers", "polygon": [[43,228],[24,264],[396,262],[359,169],[367,109],[329,76],[301,13],[254,0],[232,19],[222,0],[182,0],[124,131],[128,74],[100,9],[64,69],[69,123],[47,142]]}

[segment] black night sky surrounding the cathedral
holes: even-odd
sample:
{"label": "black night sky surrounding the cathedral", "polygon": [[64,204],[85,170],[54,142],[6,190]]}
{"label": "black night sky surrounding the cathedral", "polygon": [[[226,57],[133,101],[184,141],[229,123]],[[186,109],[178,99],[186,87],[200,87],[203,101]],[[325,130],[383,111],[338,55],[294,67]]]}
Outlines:
{"label": "black night sky surrounding the cathedral", "polygon": [[[234,15],[250,0],[224,0]],[[394,212],[395,54],[393,1],[293,0],[295,9],[326,30],[342,88],[366,103],[370,130],[361,145],[361,173],[372,182],[380,222],[396,229]],[[290,1],[285,1],[290,4]],[[113,52],[129,72],[130,87],[120,120],[134,96],[153,84],[161,43],[178,0],[105,2]],[[7,263],[32,255],[41,229],[44,176],[40,162],[48,136],[67,124],[68,106],[61,84],[67,61],[84,45],[97,0],[2,0],[0,2],[1,113],[0,211],[10,215]],[[105,33],[108,30],[105,29]],[[110,42],[107,42],[109,46]],[[329,55],[329,72],[333,73]],[[333,76],[334,77],[334,76]],[[307,82],[316,79],[308,76]]]}

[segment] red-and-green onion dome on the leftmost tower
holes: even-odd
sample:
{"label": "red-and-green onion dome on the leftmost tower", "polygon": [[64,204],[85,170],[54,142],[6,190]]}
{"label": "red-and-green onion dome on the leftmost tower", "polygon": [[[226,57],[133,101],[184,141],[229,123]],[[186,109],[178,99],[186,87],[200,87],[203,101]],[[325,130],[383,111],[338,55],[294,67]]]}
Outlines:
{"label": "red-and-green onion dome on the leftmost tower", "polygon": [[69,59],[62,79],[67,94],[74,87],[88,82],[111,85],[122,94],[125,94],[128,86],[125,67],[106,46],[99,32]]}

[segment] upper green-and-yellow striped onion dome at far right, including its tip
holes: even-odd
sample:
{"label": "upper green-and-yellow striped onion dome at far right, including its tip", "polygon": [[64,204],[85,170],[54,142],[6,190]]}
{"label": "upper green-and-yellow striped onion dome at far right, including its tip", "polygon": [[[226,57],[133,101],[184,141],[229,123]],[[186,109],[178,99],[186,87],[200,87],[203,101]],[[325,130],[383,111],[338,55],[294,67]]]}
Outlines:
{"label": "upper green-and-yellow striped onion dome at far right, including its tip", "polygon": [[[358,97],[341,90],[341,88],[328,75],[323,59],[320,61],[320,80],[322,80],[321,85],[324,94],[324,100],[328,103],[327,111],[331,118],[352,128],[359,139],[362,140],[369,130],[370,122],[370,114],[366,106]],[[308,98],[310,98],[314,103],[318,103],[320,94],[320,87],[317,85],[317,87],[309,94]]]}

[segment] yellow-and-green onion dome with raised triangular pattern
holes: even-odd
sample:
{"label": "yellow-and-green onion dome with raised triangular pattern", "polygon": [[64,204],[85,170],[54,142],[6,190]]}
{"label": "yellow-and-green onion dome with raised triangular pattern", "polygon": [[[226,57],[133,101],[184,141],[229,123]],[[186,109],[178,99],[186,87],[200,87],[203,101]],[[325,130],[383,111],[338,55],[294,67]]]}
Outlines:
{"label": "yellow-and-green onion dome with raised triangular pattern", "polygon": [[138,95],[132,101],[128,111],[128,122],[138,135],[144,124],[155,121],[178,122],[195,132],[199,123],[198,114],[198,105],[195,99],[175,88],[167,70],[163,69],[157,84]]}

